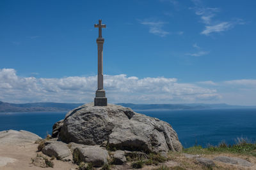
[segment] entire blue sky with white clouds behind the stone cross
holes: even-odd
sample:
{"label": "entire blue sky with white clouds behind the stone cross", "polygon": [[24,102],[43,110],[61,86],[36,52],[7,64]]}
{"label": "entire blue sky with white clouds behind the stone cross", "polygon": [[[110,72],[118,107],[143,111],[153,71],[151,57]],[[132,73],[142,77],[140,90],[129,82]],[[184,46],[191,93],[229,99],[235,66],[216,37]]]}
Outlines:
{"label": "entire blue sky with white clouds behind the stone cross", "polygon": [[256,105],[256,1],[0,1],[0,101]]}

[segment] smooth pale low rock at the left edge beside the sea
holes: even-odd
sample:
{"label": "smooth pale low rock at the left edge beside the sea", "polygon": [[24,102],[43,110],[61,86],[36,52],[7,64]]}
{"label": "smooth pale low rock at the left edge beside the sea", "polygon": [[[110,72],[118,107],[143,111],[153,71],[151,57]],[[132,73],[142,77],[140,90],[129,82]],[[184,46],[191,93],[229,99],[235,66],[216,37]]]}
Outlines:
{"label": "smooth pale low rock at the left edge beside the sea", "polygon": [[0,144],[35,143],[38,139],[42,138],[28,131],[0,131]]}

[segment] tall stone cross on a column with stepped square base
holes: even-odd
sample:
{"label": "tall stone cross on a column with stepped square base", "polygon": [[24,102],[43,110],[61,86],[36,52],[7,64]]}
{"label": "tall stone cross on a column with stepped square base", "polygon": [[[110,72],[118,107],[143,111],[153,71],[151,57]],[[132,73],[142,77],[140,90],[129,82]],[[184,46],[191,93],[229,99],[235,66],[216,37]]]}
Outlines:
{"label": "tall stone cross on a column with stepped square base", "polygon": [[103,89],[103,43],[104,38],[102,38],[102,28],[106,28],[105,24],[101,24],[102,21],[99,20],[99,24],[94,24],[94,27],[99,28],[99,38],[96,42],[98,45],[98,89],[94,98],[94,106],[107,106],[108,99],[106,97],[106,92]]}

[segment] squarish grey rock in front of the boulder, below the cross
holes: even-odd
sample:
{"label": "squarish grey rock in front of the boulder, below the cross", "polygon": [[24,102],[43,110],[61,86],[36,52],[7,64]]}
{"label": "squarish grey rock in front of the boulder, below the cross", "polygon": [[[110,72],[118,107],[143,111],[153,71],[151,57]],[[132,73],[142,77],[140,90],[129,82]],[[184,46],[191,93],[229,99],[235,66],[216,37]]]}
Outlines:
{"label": "squarish grey rock in front of the boulder, below the cross", "polygon": [[94,167],[108,164],[108,151],[99,146],[78,146],[73,152],[74,162],[91,162]]}

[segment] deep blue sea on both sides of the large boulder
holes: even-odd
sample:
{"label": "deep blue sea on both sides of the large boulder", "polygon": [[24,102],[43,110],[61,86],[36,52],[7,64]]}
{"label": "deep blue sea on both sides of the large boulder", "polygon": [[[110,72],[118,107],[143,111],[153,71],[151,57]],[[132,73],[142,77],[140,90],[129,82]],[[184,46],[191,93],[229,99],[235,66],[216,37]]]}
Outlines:
{"label": "deep blue sea on both sides of the large boulder", "polygon": [[[172,125],[184,148],[256,141],[256,108],[209,110],[134,110]],[[45,138],[66,112],[0,113],[0,131],[26,130]]]}

